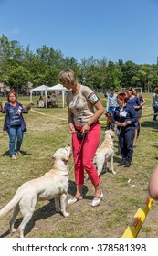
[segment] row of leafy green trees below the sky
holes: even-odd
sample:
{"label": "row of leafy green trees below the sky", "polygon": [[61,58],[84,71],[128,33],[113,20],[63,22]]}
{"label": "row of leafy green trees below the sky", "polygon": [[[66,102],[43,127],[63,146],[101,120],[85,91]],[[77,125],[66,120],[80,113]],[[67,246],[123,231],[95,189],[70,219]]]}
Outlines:
{"label": "row of leafy green trees below the sky", "polygon": [[117,91],[124,87],[142,87],[152,90],[158,86],[158,65],[138,65],[131,60],[123,63],[108,61],[106,57],[81,59],[64,57],[61,50],[46,45],[33,53],[29,45],[24,49],[16,40],[0,37],[0,82],[17,92],[27,91],[28,82],[37,87],[58,83],[61,69],[72,69],[80,83],[93,89],[106,90],[113,86]]}

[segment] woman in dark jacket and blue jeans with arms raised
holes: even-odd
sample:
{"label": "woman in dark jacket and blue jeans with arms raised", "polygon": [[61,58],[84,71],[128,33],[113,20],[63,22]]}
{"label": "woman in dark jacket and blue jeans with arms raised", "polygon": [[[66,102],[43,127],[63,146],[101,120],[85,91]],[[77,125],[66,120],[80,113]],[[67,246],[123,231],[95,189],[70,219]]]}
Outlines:
{"label": "woman in dark jacket and blue jeans with arms raised", "polygon": [[20,152],[20,148],[23,141],[23,133],[26,132],[26,123],[22,114],[27,113],[30,108],[25,109],[21,103],[17,102],[15,91],[10,91],[8,93],[7,101],[8,102],[5,103],[4,108],[2,103],[0,107],[1,112],[6,113],[3,130],[9,135],[9,152],[11,158],[16,160],[16,155],[23,155]]}

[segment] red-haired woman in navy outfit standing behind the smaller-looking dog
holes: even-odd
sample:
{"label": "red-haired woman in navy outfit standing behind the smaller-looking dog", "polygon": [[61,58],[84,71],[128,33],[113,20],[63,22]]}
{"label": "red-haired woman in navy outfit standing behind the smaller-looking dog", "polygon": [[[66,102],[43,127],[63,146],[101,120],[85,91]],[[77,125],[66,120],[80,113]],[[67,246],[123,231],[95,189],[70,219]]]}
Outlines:
{"label": "red-haired woman in navy outfit standing behind the smaller-looking dog", "polygon": [[120,130],[119,144],[121,147],[121,163],[119,166],[130,167],[133,155],[133,139],[135,135],[135,123],[137,112],[127,104],[127,96],[121,92],[117,95],[118,107],[113,112],[113,122]]}

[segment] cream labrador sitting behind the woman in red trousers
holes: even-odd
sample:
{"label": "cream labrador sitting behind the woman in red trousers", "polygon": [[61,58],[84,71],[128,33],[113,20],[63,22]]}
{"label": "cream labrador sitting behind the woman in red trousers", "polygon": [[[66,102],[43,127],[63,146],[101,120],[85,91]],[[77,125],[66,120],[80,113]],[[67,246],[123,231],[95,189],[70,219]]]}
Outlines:
{"label": "cream labrador sitting behind the woman in red trousers", "polygon": [[115,133],[112,130],[107,130],[104,132],[104,141],[97,149],[96,154],[94,156],[94,164],[97,167],[98,174],[103,170],[105,165],[105,169],[111,171],[113,175],[116,174],[113,167],[113,155],[114,155],[114,146],[113,146],[113,137]]}

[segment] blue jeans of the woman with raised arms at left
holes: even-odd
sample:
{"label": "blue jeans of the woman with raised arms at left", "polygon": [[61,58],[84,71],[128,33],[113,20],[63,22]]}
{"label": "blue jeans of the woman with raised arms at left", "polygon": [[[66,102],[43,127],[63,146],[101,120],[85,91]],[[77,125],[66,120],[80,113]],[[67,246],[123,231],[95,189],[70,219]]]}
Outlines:
{"label": "blue jeans of the woman with raised arms at left", "polygon": [[[11,127],[8,131],[9,135],[9,150],[10,155],[13,155],[16,153],[16,151],[20,151],[20,147],[23,141],[23,132],[21,130],[21,126],[15,126]],[[17,137],[17,142],[16,142]],[[16,151],[15,151],[15,144],[16,144]]]}

